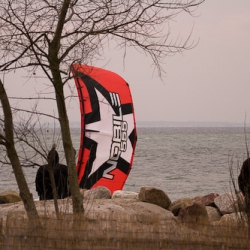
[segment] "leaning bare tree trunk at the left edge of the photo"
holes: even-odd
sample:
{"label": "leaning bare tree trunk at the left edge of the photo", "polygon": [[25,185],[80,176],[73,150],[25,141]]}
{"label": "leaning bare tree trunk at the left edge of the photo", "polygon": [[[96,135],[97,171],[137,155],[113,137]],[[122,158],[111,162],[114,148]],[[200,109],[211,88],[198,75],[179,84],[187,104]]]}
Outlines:
{"label": "leaning bare tree trunk at the left edge of the photo", "polygon": [[5,128],[4,145],[7,150],[7,155],[12,164],[12,168],[15,174],[17,185],[20,190],[20,197],[23,200],[23,204],[27,212],[29,221],[32,223],[37,223],[36,225],[40,225],[38,213],[37,213],[36,206],[33,200],[33,196],[30,193],[30,190],[28,188],[28,184],[25,180],[23,170],[22,170],[16,149],[15,149],[12,112],[11,112],[7,94],[5,92],[5,89],[1,80],[0,80],[0,99],[1,99],[2,109],[4,113],[4,128]]}

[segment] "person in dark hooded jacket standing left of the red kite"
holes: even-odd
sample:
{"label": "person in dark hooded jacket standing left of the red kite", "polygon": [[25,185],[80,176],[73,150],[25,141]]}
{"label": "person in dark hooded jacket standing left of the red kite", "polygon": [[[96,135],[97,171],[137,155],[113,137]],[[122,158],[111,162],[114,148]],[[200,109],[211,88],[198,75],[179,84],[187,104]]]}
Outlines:
{"label": "person in dark hooded jacket standing left of the red kite", "polygon": [[48,154],[48,164],[41,166],[36,174],[36,191],[39,200],[52,200],[53,188],[50,179],[49,169],[52,167],[53,176],[55,179],[55,187],[57,198],[63,199],[70,196],[68,185],[68,168],[59,163],[59,155],[55,147]]}

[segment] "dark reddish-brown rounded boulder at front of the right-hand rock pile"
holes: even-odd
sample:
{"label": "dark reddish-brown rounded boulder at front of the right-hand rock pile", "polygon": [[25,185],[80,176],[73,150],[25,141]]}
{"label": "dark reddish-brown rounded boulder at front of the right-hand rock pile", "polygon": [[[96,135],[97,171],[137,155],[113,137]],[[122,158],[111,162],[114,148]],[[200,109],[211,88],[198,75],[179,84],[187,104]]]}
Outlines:
{"label": "dark reddish-brown rounded boulder at front of the right-hand rock pile", "polygon": [[180,222],[187,224],[188,227],[204,226],[209,223],[206,207],[200,203],[193,203],[190,206],[182,208],[178,219]]}

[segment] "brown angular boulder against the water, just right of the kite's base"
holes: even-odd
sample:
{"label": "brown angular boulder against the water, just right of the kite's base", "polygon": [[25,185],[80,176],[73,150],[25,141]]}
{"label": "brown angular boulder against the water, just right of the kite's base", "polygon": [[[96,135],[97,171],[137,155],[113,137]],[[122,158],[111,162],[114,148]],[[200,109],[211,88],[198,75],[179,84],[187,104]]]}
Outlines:
{"label": "brown angular boulder against the water, just right of the kite's base", "polygon": [[171,200],[167,194],[161,189],[154,187],[141,187],[139,200],[155,204],[165,209],[168,209],[171,204]]}

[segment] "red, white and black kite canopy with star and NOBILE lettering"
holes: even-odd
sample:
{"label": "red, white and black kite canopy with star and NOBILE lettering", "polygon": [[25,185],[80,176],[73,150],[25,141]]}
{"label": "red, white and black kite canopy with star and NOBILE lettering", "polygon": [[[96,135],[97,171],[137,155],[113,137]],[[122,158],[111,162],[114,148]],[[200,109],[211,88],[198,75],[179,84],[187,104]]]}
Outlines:
{"label": "red, white and black kite canopy with star and NOBILE lettering", "polygon": [[137,140],[129,85],[119,75],[92,66],[71,68],[81,110],[77,172],[81,188],[121,190],[131,170]]}

